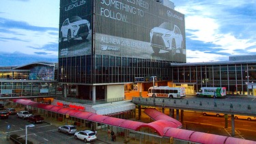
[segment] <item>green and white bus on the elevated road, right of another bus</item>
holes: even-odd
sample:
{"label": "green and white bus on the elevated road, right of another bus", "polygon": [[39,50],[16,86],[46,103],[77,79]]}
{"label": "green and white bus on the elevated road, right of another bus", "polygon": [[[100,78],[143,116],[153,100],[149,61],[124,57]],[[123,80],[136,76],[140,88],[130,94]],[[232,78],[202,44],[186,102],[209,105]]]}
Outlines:
{"label": "green and white bus on the elevated road, right of another bus", "polygon": [[227,96],[226,87],[201,87],[200,91],[197,92],[197,96],[223,98]]}

